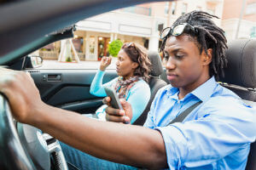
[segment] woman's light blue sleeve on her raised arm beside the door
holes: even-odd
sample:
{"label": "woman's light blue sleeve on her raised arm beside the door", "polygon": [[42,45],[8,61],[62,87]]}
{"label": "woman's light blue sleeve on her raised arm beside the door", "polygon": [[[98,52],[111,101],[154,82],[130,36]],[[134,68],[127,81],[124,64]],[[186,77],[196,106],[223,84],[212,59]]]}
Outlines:
{"label": "woman's light blue sleeve on her raised arm beside the door", "polygon": [[104,87],[111,86],[114,82],[117,81],[117,77],[114,78],[110,82],[102,84],[102,79],[103,79],[104,75],[105,75],[105,71],[98,70],[96,72],[96,75],[93,78],[93,81],[91,82],[91,85],[90,85],[90,94],[96,95],[98,97],[106,97],[107,96]]}

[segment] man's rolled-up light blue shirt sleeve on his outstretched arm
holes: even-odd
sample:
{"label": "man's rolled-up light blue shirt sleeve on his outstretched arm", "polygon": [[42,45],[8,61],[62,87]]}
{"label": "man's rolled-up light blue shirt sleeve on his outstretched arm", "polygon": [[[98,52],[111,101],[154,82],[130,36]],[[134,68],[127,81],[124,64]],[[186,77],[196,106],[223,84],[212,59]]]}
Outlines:
{"label": "man's rolled-up light blue shirt sleeve on his outstretched arm", "polygon": [[[156,128],[165,141],[170,169],[211,164],[255,140],[256,111],[240,100],[211,100],[198,113],[196,120]],[[239,151],[247,152],[237,159],[246,160],[248,150]]]}

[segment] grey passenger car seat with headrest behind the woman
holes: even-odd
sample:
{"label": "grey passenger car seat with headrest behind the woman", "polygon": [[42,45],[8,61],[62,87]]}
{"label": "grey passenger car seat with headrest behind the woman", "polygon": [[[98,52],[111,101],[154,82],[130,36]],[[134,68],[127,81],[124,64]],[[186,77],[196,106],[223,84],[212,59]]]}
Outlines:
{"label": "grey passenger car seat with headrest behind the woman", "polygon": [[133,123],[134,125],[142,125],[143,126],[144,122],[147,119],[148,111],[150,110],[150,106],[151,106],[151,103],[154,99],[155,94],[157,93],[157,91],[160,88],[167,85],[167,83],[165,81],[160,79],[160,75],[163,72],[163,66],[162,66],[162,62],[161,62],[161,59],[160,59],[160,54],[158,54],[157,52],[149,51],[148,52],[148,57],[149,57],[149,59],[151,61],[151,64],[152,64],[151,71],[149,73],[150,79],[149,79],[149,82],[148,82],[150,92],[151,92],[151,96],[150,96],[150,99],[148,101],[148,105],[146,106],[142,115],[139,116],[137,118],[137,120]]}

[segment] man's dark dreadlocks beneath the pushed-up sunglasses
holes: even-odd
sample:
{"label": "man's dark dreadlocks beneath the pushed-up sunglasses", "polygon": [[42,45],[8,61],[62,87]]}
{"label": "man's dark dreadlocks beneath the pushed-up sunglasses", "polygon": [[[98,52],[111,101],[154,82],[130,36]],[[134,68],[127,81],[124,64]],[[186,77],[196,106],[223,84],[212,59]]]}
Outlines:
{"label": "man's dark dreadlocks beneath the pushed-up sunglasses", "polygon": [[[184,31],[184,33],[188,34],[190,37],[194,37],[197,41],[200,53],[202,53],[202,50],[205,50],[207,54],[207,49],[212,48],[210,76],[214,76],[218,81],[219,76],[224,77],[224,67],[227,65],[227,59],[225,56],[227,40],[224,36],[224,31],[214,24],[212,18],[218,17],[202,11],[192,11],[180,16],[173,23],[172,27],[182,23],[189,23],[191,26],[195,27],[195,30],[197,31],[196,33],[192,31]],[[161,51],[166,46],[166,39],[164,39],[162,43]]]}

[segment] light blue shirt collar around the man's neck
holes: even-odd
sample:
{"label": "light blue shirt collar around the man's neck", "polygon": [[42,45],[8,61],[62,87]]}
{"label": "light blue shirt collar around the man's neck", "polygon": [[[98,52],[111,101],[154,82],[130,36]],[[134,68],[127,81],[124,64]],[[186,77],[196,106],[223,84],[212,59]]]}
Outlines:
{"label": "light blue shirt collar around the man's neck", "polygon": [[[195,88],[195,90],[193,90],[189,94],[195,95],[195,97],[197,97],[198,99],[201,99],[201,101],[204,102],[212,96],[216,86],[217,86],[217,82],[215,81],[215,78],[211,77],[209,80],[207,80],[207,82],[204,82],[203,84],[201,84],[201,86],[199,86],[198,88]],[[173,95],[177,94],[177,92],[178,92],[178,88],[174,88],[171,85],[170,87],[166,88],[166,94],[168,96],[172,96],[172,98],[175,97]],[[189,94],[187,94],[186,97]]]}

